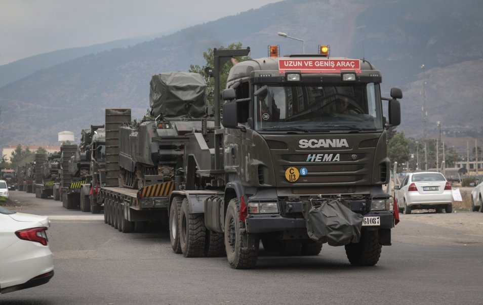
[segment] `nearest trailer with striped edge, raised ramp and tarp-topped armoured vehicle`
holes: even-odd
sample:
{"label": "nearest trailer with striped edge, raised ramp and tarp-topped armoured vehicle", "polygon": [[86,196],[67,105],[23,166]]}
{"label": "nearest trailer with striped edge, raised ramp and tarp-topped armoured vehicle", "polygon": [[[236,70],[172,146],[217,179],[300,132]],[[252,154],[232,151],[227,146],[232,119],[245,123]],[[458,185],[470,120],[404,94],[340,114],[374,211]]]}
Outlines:
{"label": "nearest trailer with striped edge, raised ramp and tarp-topped armoured vehicle", "polygon": [[106,109],[106,179],[98,204],[104,204],[104,221],[122,232],[148,221],[167,224],[185,135],[214,127],[205,119],[206,83],[197,73],[153,75],[150,106],[139,124],[129,123],[130,109]]}

